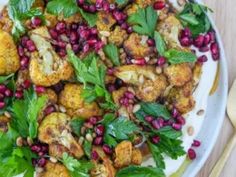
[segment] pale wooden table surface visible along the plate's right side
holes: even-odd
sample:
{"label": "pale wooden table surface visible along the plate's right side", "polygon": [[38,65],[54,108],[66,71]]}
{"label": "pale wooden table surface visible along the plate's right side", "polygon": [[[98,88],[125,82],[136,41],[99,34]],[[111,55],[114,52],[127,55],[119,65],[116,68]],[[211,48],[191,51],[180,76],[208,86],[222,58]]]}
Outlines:
{"label": "pale wooden table surface visible along the plate's right side", "polygon": [[[205,4],[214,10],[213,18],[220,31],[228,62],[229,86],[236,79],[236,0],[204,0]],[[235,105],[236,106],[236,105]],[[222,153],[227,141],[233,133],[233,128],[225,115],[223,128],[210,157],[197,177],[208,177],[215,162]],[[222,171],[221,177],[236,177],[236,148]]]}

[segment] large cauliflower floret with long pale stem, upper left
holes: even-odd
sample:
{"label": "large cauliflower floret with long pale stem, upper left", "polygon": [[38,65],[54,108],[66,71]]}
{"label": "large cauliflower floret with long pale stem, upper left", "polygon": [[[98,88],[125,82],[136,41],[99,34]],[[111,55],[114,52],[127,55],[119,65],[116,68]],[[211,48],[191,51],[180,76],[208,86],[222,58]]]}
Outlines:
{"label": "large cauliflower floret with long pale stem, upper left", "polygon": [[35,85],[52,86],[61,80],[68,80],[73,74],[73,68],[67,60],[61,59],[48,40],[51,39],[46,27],[40,27],[30,32],[30,38],[38,49],[31,56],[29,66],[30,78]]}

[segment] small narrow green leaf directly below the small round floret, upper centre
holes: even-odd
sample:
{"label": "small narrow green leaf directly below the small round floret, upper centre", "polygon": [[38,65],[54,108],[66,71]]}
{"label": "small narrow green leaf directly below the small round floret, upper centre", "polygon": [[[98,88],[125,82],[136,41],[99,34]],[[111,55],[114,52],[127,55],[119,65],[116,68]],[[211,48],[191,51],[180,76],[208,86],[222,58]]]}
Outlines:
{"label": "small narrow green leaf directly below the small round floret, upper centre", "polygon": [[112,61],[115,66],[120,66],[119,51],[116,45],[108,44],[103,48],[106,56]]}

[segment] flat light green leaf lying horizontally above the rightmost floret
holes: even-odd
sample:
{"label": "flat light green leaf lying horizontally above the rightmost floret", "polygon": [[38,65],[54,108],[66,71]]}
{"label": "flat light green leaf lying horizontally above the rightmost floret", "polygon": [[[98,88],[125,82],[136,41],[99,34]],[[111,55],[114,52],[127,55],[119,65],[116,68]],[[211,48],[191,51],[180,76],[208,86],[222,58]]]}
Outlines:
{"label": "flat light green leaf lying horizontally above the rightmost floret", "polygon": [[192,52],[184,52],[176,49],[166,51],[164,56],[171,64],[194,63],[197,61],[197,56]]}

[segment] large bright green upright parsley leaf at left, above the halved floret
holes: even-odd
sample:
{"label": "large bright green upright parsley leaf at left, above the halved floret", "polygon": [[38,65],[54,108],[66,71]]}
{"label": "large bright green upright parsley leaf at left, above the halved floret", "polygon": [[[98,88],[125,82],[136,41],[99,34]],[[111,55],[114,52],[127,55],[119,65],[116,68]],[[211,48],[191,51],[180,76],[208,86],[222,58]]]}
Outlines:
{"label": "large bright green upright parsley leaf at left, above the halved floret", "polygon": [[37,137],[37,117],[47,102],[47,97],[37,97],[31,88],[24,93],[23,100],[15,100],[12,106],[13,119],[11,126],[16,129],[22,137],[34,139]]}

